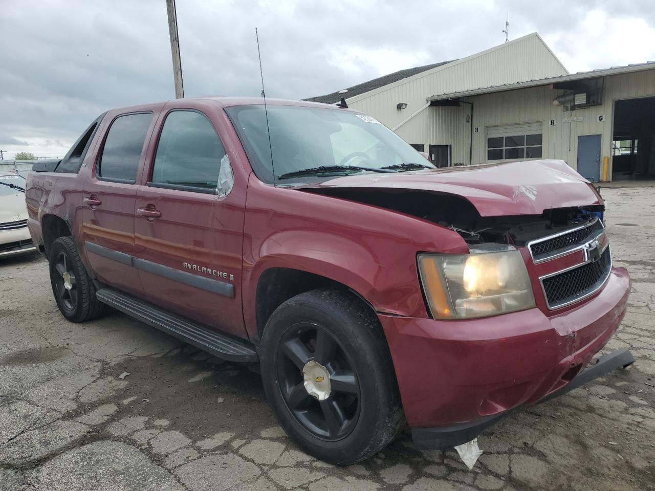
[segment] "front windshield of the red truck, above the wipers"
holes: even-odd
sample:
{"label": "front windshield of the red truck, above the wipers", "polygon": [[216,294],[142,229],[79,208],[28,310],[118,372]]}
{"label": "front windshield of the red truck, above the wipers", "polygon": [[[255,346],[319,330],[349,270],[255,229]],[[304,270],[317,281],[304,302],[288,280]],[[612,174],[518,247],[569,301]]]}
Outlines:
{"label": "front windshield of the red truck, above the wipers", "polygon": [[[401,137],[370,116],[342,109],[270,105],[269,147],[263,105],[234,106],[225,111],[257,177],[269,184],[272,183],[271,147],[276,179],[299,170],[333,166],[381,169],[421,164],[434,167]],[[330,172],[339,173],[339,170],[323,170],[320,175],[326,177]],[[316,177],[299,175],[291,180],[307,179],[316,180]]]}

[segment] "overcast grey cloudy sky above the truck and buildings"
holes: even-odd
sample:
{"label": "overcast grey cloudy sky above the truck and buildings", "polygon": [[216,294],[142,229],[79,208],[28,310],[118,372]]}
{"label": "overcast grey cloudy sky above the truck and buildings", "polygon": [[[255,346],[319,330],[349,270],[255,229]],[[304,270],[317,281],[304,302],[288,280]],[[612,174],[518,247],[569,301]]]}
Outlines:
{"label": "overcast grey cloudy sky above the truck and buildings", "polygon": [[[655,60],[655,2],[177,0],[185,95],[301,99],[537,31],[569,71]],[[165,0],[0,0],[0,149],[65,155],[100,113],[174,98]]]}

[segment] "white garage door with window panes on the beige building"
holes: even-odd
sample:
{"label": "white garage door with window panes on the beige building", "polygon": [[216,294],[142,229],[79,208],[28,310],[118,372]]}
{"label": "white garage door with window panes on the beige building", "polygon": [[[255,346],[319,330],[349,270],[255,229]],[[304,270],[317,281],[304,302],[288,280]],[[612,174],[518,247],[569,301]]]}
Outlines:
{"label": "white garage door with window panes on the beige building", "polygon": [[487,160],[541,158],[543,122],[487,128]]}

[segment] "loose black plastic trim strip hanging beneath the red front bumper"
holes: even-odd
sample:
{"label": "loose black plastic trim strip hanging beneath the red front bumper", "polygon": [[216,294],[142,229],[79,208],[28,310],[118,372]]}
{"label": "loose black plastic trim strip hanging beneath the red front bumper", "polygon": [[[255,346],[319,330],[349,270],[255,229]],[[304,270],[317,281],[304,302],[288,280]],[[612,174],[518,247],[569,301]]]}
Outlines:
{"label": "loose black plastic trim strip hanging beneath the red front bumper", "polygon": [[[619,368],[629,367],[629,365],[632,365],[634,362],[635,358],[627,348],[614,350],[601,356],[597,359],[595,364],[589,365],[587,369],[580,372],[571,380],[571,382],[547,394],[533,405],[548,401],[554,397],[559,397],[560,395],[591,382],[591,380],[594,380],[595,378],[607,375]],[[453,426],[413,428],[411,430],[412,439],[416,448],[419,448],[420,450],[444,449],[462,445],[463,443],[476,438],[480,433],[485,431],[485,429],[493,426],[498,421],[502,420],[502,418],[510,416],[510,414],[514,414],[518,410],[529,406],[531,405],[515,407],[514,409],[507,410],[500,414],[494,414],[487,418],[481,418],[473,422],[455,424]]]}

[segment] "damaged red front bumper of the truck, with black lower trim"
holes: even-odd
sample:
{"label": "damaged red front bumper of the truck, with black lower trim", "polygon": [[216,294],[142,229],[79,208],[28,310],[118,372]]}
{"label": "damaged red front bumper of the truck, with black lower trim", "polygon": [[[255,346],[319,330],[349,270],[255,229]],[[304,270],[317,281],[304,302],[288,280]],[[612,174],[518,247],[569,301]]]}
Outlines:
{"label": "damaged red front bumper of the truck, with black lower trim", "polygon": [[[583,369],[620,324],[629,288],[627,271],[612,268],[597,295],[550,317],[538,308],[457,321],[380,315],[417,445],[460,445],[510,410],[600,376],[598,365]],[[629,353],[601,367],[626,360]]]}

